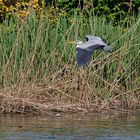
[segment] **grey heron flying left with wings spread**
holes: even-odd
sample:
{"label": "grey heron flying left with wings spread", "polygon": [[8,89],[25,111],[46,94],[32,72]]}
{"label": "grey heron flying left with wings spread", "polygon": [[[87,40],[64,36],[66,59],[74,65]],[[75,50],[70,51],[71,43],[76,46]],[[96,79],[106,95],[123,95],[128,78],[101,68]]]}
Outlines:
{"label": "grey heron flying left with wings spread", "polygon": [[94,50],[101,49],[104,51],[111,52],[112,47],[106,44],[106,41],[103,38],[86,35],[86,41],[74,41],[70,43],[76,44],[76,51],[77,51],[77,65],[78,67],[87,66],[91,60],[92,54]]}

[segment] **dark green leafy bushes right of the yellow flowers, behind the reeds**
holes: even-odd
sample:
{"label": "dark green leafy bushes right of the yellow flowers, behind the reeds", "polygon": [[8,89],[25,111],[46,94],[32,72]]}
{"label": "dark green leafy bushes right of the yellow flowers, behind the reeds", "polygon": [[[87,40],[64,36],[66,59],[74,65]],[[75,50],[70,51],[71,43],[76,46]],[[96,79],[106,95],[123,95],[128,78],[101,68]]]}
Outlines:
{"label": "dark green leafy bushes right of the yellow flowers, behind the reeds", "polygon": [[111,20],[115,25],[118,22],[126,24],[134,13],[138,14],[140,0],[59,0],[56,3],[60,9],[67,11],[69,15],[79,8],[85,15],[94,8],[94,12],[100,16],[106,16],[107,20]]}

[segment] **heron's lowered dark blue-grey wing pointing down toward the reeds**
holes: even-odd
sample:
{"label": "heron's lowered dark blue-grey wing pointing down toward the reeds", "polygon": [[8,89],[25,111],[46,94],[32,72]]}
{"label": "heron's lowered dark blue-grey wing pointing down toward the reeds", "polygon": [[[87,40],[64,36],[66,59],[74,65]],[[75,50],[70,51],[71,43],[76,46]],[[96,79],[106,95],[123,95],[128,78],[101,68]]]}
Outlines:
{"label": "heron's lowered dark blue-grey wing pointing down toward the reeds", "polygon": [[94,51],[92,43],[86,42],[81,45],[77,45],[76,50],[78,66],[82,67],[88,65]]}

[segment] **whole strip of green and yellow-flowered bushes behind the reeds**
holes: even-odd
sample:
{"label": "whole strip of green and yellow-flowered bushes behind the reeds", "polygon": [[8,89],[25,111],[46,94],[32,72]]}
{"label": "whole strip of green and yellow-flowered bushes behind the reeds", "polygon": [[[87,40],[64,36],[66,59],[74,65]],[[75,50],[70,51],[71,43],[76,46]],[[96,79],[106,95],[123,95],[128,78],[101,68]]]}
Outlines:
{"label": "whole strip of green and yellow-flowered bushes behind the reeds", "polygon": [[[88,11],[94,9],[96,15],[105,16],[108,21],[112,21],[114,25],[121,22],[121,24],[127,24],[134,13],[139,12],[140,0],[24,0],[24,1],[8,1],[0,0],[0,18],[11,13],[16,13],[20,16],[28,15],[27,9],[33,5],[38,11],[39,5],[42,7],[42,2],[46,3],[47,8],[50,10],[50,17],[54,16],[54,20],[58,18],[58,15],[65,13],[68,17],[74,14],[74,11],[80,11],[84,13],[84,16],[89,16]],[[54,14],[55,13],[55,14]],[[120,21],[121,19],[121,21]]]}

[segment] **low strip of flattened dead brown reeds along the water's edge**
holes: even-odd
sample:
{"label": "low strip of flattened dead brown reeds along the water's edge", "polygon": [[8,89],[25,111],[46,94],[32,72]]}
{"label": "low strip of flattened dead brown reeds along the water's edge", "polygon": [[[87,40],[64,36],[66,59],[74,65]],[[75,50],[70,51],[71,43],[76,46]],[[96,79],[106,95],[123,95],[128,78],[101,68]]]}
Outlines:
{"label": "low strip of flattened dead brown reeds along the water's edge", "polygon": [[[135,111],[139,102],[130,98],[103,99],[89,90],[70,93],[63,84],[28,84],[0,90],[0,113]],[[86,88],[86,87],[85,87]],[[70,90],[69,90],[70,91]]]}

